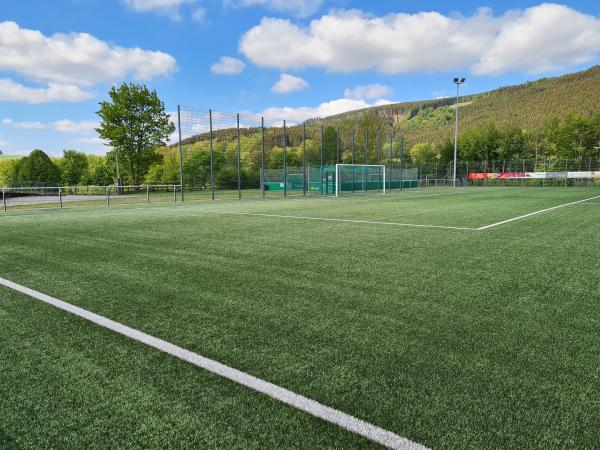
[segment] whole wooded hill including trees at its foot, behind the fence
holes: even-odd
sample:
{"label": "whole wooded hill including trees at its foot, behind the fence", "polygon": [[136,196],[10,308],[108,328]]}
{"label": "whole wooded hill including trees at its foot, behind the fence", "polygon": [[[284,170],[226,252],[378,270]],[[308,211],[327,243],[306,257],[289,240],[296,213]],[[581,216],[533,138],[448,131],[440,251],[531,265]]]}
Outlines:
{"label": "whole wooded hill including trees at its foot, behind the fence", "polygon": [[[338,161],[338,148],[339,161],[345,163],[374,163],[380,152],[388,155],[391,150],[393,164],[400,164],[401,158],[405,166],[429,164],[435,167],[433,173],[437,176],[438,166],[447,168],[453,159],[454,103],[454,98],[396,103],[310,119],[306,122],[306,141],[303,126],[289,126],[285,139],[286,163],[289,167],[299,167],[306,147],[306,161],[320,164],[320,130],[324,125],[324,164]],[[461,161],[485,163],[486,167],[505,167],[506,161],[518,161],[518,167],[523,167],[524,160],[529,161],[531,168],[540,164],[543,169],[564,169],[567,164],[573,170],[600,167],[600,66],[463,96],[460,117]],[[258,180],[261,130],[244,127],[240,134],[239,154],[246,169],[244,173]],[[233,126],[218,129],[213,137],[215,157],[221,161],[217,173],[237,182],[237,130]],[[185,139],[184,164],[201,165],[204,164],[201,161],[209,161],[208,140],[208,133]],[[266,131],[267,169],[283,167],[283,142],[280,128]],[[168,158],[164,165],[153,169],[149,180],[169,184],[178,177],[177,147],[162,149],[161,153]],[[203,173],[208,173],[206,167]],[[448,172],[444,173],[447,176]]]}

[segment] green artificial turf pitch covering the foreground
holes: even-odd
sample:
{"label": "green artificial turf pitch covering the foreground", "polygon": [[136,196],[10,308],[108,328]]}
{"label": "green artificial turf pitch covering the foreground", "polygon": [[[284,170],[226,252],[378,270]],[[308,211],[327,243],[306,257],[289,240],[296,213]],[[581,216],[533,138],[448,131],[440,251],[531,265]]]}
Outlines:
{"label": "green artificial turf pitch covering the foreground", "polygon": [[[0,277],[428,447],[594,448],[596,196],[0,211]],[[0,286],[0,448],[371,446]]]}

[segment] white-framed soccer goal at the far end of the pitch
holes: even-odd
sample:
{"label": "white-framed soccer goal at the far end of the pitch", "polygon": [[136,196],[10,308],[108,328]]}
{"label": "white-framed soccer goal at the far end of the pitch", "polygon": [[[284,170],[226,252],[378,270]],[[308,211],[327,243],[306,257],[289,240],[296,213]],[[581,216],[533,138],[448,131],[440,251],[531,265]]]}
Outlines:
{"label": "white-framed soccer goal at the far end of the pitch", "polygon": [[383,164],[336,164],[335,196],[355,192],[385,194],[385,166]]}

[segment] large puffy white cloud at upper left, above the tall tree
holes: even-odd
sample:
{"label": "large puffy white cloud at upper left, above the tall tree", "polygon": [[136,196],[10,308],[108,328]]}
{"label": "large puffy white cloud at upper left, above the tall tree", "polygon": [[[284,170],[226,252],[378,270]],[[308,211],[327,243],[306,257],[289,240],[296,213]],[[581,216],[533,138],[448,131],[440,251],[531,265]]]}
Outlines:
{"label": "large puffy white cloud at upper left, above the tall tree", "polygon": [[148,80],[174,70],[175,59],[160,51],[109,45],[87,33],[45,36],[0,22],[0,71],[35,81],[90,87],[128,76]]}

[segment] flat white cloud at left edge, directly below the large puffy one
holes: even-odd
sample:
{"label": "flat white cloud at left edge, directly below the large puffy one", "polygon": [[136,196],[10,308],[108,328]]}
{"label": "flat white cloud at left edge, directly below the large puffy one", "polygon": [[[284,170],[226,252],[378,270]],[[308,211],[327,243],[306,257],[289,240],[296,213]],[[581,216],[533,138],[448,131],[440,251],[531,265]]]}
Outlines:
{"label": "flat white cloud at left edge, directly below the large puffy one", "polygon": [[92,97],[91,93],[72,84],[49,83],[48,87],[32,88],[6,78],[0,79],[0,102],[72,103],[89,100]]}

